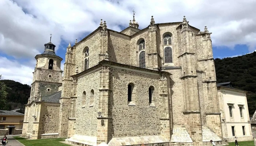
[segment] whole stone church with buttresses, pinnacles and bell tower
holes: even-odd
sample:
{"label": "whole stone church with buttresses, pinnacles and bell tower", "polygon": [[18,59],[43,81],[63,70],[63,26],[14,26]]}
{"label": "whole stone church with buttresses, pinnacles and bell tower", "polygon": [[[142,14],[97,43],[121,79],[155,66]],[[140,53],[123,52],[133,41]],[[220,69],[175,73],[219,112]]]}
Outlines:
{"label": "whole stone church with buttresses, pinnacles and bell tower", "polygon": [[121,32],[106,22],[63,60],[46,43],[36,55],[23,137],[83,146],[222,145],[211,33],[182,22]]}

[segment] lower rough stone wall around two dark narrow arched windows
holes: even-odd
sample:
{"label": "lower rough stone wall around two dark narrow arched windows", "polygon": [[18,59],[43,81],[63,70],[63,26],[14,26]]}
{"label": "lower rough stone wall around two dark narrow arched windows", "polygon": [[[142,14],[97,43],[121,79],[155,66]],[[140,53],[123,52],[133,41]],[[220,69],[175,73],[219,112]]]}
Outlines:
{"label": "lower rough stone wall around two dark narrow arched windows", "polygon": [[[110,111],[113,117],[113,138],[143,135],[160,135],[159,105],[150,107],[148,88],[154,87],[159,97],[159,75],[114,68],[112,70],[112,96]],[[128,84],[132,82],[136,92],[135,106],[128,105]],[[158,103],[158,98],[157,98]],[[113,107],[114,105],[114,107]],[[131,132],[132,131],[132,132]]]}

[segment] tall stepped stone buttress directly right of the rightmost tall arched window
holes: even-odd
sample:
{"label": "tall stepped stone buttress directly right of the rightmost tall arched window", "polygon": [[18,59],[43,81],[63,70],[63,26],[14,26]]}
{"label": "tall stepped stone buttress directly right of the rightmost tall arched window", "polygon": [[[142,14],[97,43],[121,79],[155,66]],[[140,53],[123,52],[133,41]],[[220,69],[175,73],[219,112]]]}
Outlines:
{"label": "tall stepped stone buttress directly right of the rightmost tall arched window", "polygon": [[178,61],[181,66],[181,83],[184,98],[184,121],[194,145],[202,143],[202,125],[196,76],[195,49],[192,47],[192,31],[184,16],[177,28],[180,35]]}

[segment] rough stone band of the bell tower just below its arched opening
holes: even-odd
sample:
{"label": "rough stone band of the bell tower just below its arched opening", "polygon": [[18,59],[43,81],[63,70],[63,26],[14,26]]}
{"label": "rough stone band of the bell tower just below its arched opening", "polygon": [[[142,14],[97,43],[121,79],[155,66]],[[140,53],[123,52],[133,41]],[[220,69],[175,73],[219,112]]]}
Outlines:
{"label": "rough stone band of the bell tower just below its arched opening", "polygon": [[61,82],[60,78],[62,78],[62,72],[59,70],[41,69],[39,76],[39,81]]}

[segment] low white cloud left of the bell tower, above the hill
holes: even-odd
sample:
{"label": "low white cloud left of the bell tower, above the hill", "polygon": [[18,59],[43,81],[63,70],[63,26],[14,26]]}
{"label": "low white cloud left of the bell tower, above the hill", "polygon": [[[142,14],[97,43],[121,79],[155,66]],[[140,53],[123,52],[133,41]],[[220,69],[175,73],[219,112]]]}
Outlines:
{"label": "low white cloud left of the bell tower, above the hill", "polygon": [[22,65],[18,61],[0,57],[1,80],[14,80],[30,85],[33,80],[33,71],[34,68],[29,65]]}

